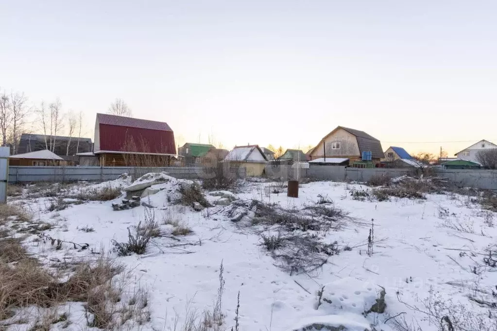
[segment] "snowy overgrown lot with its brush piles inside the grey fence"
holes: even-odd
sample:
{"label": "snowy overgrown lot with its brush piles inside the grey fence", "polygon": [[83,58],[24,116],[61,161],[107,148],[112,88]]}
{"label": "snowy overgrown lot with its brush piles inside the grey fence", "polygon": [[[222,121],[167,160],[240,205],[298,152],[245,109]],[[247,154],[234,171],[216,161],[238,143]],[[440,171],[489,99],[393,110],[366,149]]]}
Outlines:
{"label": "snowy overgrown lot with its brush piles inside the grey fence", "polygon": [[[281,183],[246,182],[236,195],[204,192],[211,206],[193,208],[178,203],[191,182],[158,176],[142,180],[163,182],[142,205],[123,210],[112,204],[125,193],[84,194],[136,185],[130,178],[24,187],[8,203],[29,217],[3,215],[0,225],[49,270],[102,256],[123,264],[109,281],[119,287],[107,303],[115,330],[497,330],[497,217],[478,199],[380,201],[371,187],[334,182],[288,198]],[[145,252],[119,256],[115,243],[139,223],[151,234]],[[0,330],[96,330],[85,305],[18,305]],[[56,318],[43,329],[47,311]],[[221,325],[185,326],[206,314]]]}

